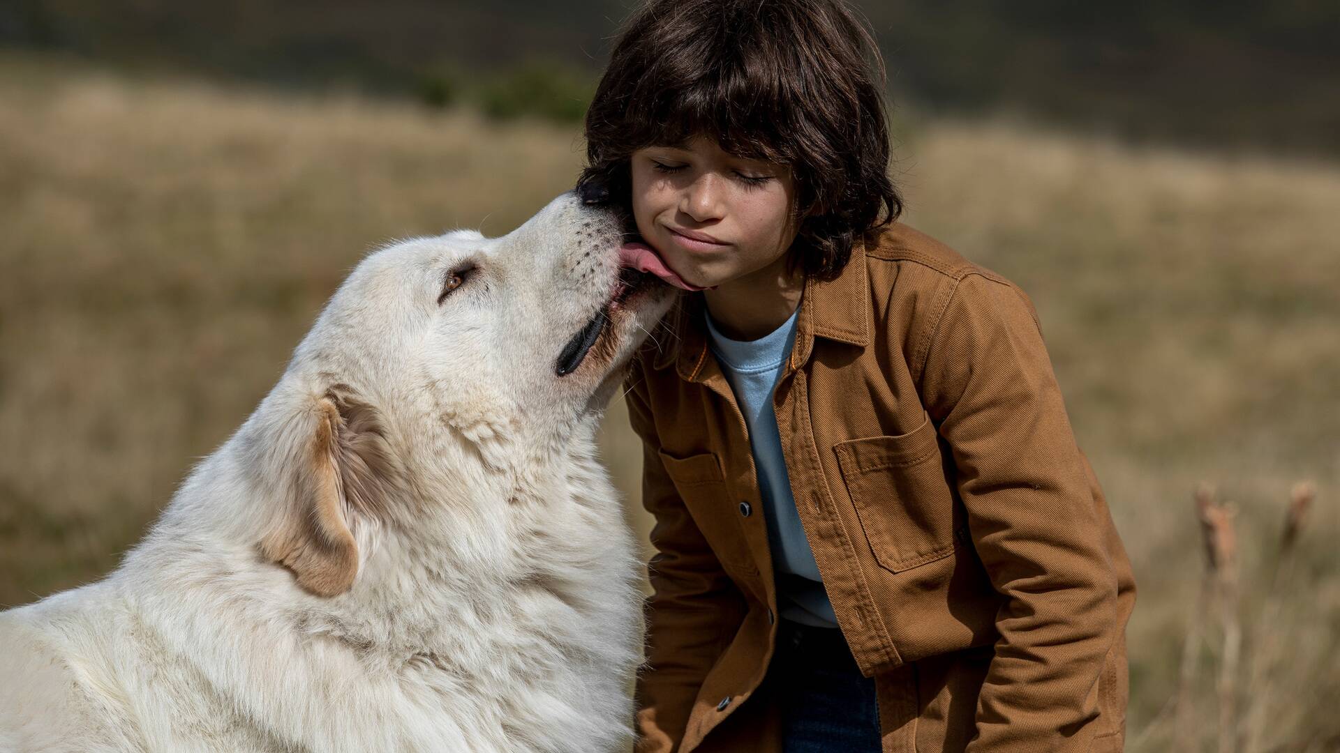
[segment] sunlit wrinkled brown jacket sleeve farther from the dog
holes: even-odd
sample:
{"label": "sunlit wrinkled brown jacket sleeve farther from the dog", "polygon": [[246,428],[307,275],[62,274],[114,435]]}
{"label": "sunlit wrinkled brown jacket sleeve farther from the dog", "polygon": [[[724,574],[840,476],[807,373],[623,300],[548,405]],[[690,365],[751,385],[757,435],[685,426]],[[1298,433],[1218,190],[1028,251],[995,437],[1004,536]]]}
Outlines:
{"label": "sunlit wrinkled brown jacket sleeve farther from the dog", "polygon": [[1122,630],[1116,573],[1037,314],[1016,285],[972,272],[925,342],[922,397],[1005,596],[969,750],[1088,750]]}

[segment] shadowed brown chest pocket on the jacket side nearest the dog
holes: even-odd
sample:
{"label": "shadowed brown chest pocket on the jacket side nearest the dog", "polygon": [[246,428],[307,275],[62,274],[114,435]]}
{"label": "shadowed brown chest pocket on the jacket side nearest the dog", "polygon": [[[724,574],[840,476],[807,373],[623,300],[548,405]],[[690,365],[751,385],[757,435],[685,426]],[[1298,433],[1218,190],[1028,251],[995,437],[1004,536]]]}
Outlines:
{"label": "shadowed brown chest pocket on the jacket side nearest the dog", "polygon": [[717,559],[733,572],[757,575],[740,527],[740,508],[730,498],[716,453],[674,457],[657,450],[683,506]]}

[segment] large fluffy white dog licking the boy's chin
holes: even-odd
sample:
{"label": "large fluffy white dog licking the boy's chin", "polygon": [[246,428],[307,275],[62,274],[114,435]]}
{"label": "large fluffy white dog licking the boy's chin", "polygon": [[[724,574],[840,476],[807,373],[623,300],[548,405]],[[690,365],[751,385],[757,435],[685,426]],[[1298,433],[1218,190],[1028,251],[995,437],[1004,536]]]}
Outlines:
{"label": "large fluffy white dog licking the boy's chin", "polygon": [[0,614],[0,749],[626,745],[641,598],[595,431],[673,288],[622,232],[564,194],[364,259],[115,572]]}

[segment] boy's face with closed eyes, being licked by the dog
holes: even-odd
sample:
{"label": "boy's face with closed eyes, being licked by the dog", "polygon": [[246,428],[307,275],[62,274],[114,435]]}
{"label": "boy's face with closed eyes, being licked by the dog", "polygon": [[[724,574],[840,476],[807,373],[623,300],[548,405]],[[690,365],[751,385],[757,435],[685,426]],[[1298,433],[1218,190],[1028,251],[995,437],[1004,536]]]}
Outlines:
{"label": "boy's face with closed eyes, being licked by the dog", "polygon": [[638,232],[687,283],[714,287],[785,265],[796,238],[788,167],[694,137],[639,149],[631,173]]}

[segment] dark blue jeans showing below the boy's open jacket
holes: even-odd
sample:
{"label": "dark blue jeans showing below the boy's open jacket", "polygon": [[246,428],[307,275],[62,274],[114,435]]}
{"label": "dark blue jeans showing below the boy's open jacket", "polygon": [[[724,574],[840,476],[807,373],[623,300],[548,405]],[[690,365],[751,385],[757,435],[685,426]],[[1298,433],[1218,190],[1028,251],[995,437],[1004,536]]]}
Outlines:
{"label": "dark blue jeans showing below the boy's open jacket", "polygon": [[785,753],[879,753],[875,681],[839,630],[783,620],[764,682],[780,705]]}

